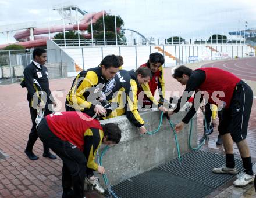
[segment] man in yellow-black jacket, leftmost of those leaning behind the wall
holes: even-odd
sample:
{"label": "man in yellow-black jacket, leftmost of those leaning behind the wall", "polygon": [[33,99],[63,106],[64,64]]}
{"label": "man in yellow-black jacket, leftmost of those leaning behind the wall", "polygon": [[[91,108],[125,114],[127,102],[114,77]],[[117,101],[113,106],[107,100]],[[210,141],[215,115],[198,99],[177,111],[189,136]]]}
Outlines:
{"label": "man in yellow-black jacket, leftmost of those leaning behind the wall", "polygon": [[106,110],[99,101],[98,94],[108,79],[113,78],[119,71],[119,60],[115,55],[106,56],[99,65],[81,71],[73,81],[66,97],[66,111],[79,110],[89,116],[106,115]]}

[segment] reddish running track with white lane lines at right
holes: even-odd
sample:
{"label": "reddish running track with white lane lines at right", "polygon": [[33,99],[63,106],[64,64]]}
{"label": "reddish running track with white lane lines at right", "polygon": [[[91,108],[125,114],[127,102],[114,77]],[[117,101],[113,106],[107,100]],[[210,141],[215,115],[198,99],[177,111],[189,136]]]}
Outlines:
{"label": "reddish running track with white lane lines at right", "polygon": [[201,67],[218,67],[232,72],[241,79],[256,81],[256,58],[241,58],[207,63]]}

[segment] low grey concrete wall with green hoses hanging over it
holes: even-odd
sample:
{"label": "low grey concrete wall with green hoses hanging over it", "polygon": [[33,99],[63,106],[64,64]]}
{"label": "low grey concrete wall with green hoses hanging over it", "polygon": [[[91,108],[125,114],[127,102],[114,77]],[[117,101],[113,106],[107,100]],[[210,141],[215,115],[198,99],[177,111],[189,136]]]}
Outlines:
{"label": "low grey concrete wall with green hoses hanging over it", "polygon": [[[173,115],[173,124],[180,122],[185,114],[186,112],[181,111]],[[157,129],[160,117],[158,111],[143,112],[140,115],[145,120],[147,130]],[[111,146],[102,159],[102,166],[105,167],[111,185],[177,157],[175,137],[166,118],[163,118],[161,129],[154,135],[140,135],[136,127],[127,120],[126,116],[101,121],[101,123],[109,122],[118,123],[122,130],[122,139],[119,144]],[[197,145],[196,122],[196,117],[194,117],[193,135],[191,137],[193,147]],[[181,153],[189,151],[189,130],[190,125],[188,124],[181,133],[177,134]],[[105,145],[102,145],[99,149],[99,156],[104,147]],[[101,175],[98,175],[98,177],[102,178]],[[101,181],[101,184],[104,185],[102,179]]]}

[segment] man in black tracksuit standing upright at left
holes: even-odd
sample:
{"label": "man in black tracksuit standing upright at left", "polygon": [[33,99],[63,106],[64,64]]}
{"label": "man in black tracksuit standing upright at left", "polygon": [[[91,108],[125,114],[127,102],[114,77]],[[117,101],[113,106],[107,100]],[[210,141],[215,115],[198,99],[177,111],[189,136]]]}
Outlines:
{"label": "man in black tracksuit standing upright at left", "polygon": [[[48,105],[53,104],[54,107],[56,107],[56,103],[52,102],[50,99],[51,90],[49,89],[48,72],[47,68],[44,66],[46,61],[46,51],[44,49],[36,48],[33,51],[33,61],[24,69],[24,82],[22,86],[27,87],[27,100],[29,101],[30,116],[32,120],[32,128],[25,153],[31,160],[38,159],[38,156],[32,151],[35,141],[37,141],[38,138],[37,126],[35,123],[38,109],[44,108],[45,116],[52,113]],[[56,159],[56,156],[49,152],[49,147],[46,144],[44,144],[43,156],[49,157],[50,159]]]}

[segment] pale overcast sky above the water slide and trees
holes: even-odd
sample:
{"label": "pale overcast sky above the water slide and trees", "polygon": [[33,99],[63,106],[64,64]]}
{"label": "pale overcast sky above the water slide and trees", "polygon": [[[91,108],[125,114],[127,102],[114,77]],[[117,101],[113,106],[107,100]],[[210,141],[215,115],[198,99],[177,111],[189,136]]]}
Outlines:
{"label": "pale overcast sky above the water slide and trees", "polygon": [[[125,26],[146,37],[209,38],[211,34],[256,28],[256,0],[0,0],[0,26],[61,19],[53,5],[78,5],[87,12],[106,10],[120,15]],[[51,23],[50,23],[51,24]],[[1,28],[1,27],[0,27]],[[0,30],[1,31],[1,30]],[[10,41],[15,42],[13,36]],[[6,43],[0,34],[0,43]]]}

